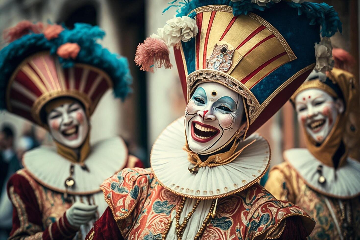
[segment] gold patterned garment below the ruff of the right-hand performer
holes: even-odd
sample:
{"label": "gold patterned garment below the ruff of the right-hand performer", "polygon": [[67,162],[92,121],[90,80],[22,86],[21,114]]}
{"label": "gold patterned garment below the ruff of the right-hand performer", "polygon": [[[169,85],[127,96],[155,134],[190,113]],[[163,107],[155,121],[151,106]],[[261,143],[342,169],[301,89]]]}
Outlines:
{"label": "gold patterned garment below the ruff of the right-hand performer", "polygon": [[360,239],[359,196],[352,199],[324,196],[307,186],[288,162],[271,169],[265,187],[276,198],[291,201],[314,217],[316,225],[309,239],[340,239],[339,231],[343,239]]}

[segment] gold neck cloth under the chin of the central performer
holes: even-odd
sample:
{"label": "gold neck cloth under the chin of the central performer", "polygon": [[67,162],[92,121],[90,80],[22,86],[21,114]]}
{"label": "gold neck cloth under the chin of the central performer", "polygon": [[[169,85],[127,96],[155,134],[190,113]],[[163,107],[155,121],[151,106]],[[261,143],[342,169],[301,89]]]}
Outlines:
{"label": "gold neck cloth under the chin of the central performer", "polygon": [[214,155],[210,155],[205,161],[202,161],[197,153],[194,153],[190,150],[188,143],[185,143],[184,150],[188,153],[188,160],[190,163],[194,164],[195,167],[215,167],[219,165],[225,165],[232,162],[235,158],[237,158],[240,153],[247,148],[249,145],[253,144],[256,141],[249,142],[249,144],[245,145],[242,149],[236,151],[239,142],[234,141],[229,151],[224,153],[218,153]]}

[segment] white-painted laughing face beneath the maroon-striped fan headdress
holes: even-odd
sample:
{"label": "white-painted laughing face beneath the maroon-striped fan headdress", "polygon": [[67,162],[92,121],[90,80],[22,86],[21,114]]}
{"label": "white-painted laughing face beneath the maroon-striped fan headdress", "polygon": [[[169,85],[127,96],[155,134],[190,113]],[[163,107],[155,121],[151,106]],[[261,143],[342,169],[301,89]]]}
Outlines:
{"label": "white-painted laughing face beneath the maroon-striped fan headdress", "polygon": [[80,147],[89,132],[85,110],[76,101],[52,109],[47,121],[53,138],[69,148]]}

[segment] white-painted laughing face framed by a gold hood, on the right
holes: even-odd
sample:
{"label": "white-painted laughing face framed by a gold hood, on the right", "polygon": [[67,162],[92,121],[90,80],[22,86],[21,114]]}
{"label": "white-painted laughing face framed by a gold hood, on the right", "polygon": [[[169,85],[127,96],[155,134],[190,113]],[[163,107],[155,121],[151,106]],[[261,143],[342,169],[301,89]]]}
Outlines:
{"label": "white-painted laughing face framed by a gold hood, on the right", "polygon": [[307,133],[321,144],[332,130],[338,114],[344,110],[342,100],[336,101],[320,89],[306,89],[295,98],[298,121]]}

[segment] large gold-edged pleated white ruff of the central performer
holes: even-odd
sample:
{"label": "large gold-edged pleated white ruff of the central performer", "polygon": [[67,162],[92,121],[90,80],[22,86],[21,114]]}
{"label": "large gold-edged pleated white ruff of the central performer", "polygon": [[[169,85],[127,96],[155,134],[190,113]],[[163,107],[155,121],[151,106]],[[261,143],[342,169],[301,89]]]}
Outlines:
{"label": "large gold-edged pleated white ruff of the central performer", "polygon": [[184,116],[165,128],[155,141],[150,164],[158,182],[174,194],[198,199],[231,195],[255,184],[270,164],[270,146],[260,135],[253,134],[240,142],[238,149],[251,141],[239,157],[216,167],[200,167],[190,173],[185,145]]}

